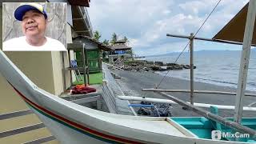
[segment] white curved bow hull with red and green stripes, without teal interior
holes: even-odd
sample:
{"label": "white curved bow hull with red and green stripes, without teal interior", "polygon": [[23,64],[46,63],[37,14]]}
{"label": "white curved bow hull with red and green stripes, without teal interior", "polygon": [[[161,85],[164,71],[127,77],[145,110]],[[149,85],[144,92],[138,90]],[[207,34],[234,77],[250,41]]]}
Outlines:
{"label": "white curved bow hull with red and green stripes, without teal interior", "polygon": [[170,118],[105,113],[39,89],[0,50],[0,73],[62,143],[241,143],[198,138]]}

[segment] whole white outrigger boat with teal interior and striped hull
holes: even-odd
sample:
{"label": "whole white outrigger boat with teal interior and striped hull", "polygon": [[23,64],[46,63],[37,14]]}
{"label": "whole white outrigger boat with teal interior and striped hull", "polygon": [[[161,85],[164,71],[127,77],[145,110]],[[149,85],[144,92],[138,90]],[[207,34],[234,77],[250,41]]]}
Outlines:
{"label": "whole white outrigger boat with teal interior and striped hull", "polygon": [[[250,5],[256,6],[256,2],[251,0]],[[252,8],[249,6],[249,11],[253,10]],[[255,17],[255,14],[253,16]],[[215,110],[213,114],[172,97],[172,100],[178,104],[190,107],[204,117],[152,118],[110,114],[68,102],[38,88],[6,57],[2,50],[0,50],[0,73],[30,106],[34,114],[38,115],[54,137],[62,143],[256,142],[256,118],[242,118],[241,122],[234,122],[233,118],[219,117],[216,107],[212,107],[212,110]],[[146,98],[143,100],[150,101]],[[232,138],[233,134],[231,134],[230,138],[215,140],[212,139],[212,130],[221,130],[226,134],[238,131],[239,134],[250,135]],[[218,137],[214,133],[215,136]]]}

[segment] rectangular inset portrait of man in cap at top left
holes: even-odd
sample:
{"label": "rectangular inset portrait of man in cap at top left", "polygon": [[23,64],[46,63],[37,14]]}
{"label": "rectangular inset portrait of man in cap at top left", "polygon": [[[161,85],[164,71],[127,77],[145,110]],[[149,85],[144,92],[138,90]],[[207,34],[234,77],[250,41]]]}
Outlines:
{"label": "rectangular inset portrait of man in cap at top left", "polygon": [[2,50],[66,51],[65,2],[3,2]]}

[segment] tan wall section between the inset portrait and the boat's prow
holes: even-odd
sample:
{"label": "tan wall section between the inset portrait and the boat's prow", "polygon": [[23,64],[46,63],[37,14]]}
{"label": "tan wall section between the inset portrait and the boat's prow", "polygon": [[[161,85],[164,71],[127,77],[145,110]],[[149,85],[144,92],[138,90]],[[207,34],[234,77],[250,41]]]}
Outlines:
{"label": "tan wall section between the inset portrait and the boat's prow", "polygon": [[51,52],[5,52],[8,58],[38,87],[55,94]]}

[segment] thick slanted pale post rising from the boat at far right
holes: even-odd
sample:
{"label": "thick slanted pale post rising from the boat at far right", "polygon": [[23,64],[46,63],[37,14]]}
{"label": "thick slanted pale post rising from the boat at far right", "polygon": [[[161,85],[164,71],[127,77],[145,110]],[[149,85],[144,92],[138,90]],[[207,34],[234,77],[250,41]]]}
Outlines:
{"label": "thick slanted pale post rising from the boat at far right", "polygon": [[242,56],[238,78],[238,90],[235,98],[234,122],[241,123],[243,98],[246,90],[246,78],[250,59],[250,46],[254,33],[254,22],[256,17],[256,1],[250,0],[246,18],[246,29],[243,36]]}

